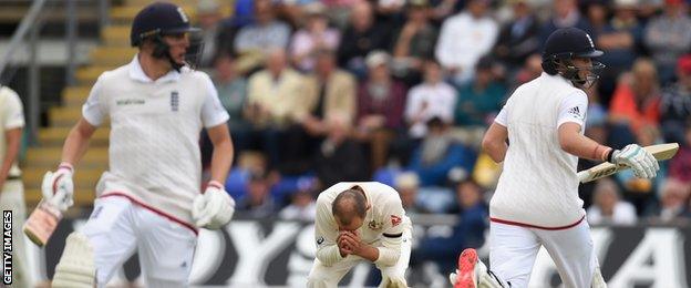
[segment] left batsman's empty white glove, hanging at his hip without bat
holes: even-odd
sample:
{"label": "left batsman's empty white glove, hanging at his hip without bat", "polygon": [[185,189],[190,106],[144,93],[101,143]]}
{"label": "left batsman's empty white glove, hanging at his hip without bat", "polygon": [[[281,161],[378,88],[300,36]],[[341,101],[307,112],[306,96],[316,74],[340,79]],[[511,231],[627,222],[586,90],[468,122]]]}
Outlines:
{"label": "left batsman's empty white glove, hanging at his hip without bat", "polygon": [[219,229],[235,213],[235,200],[220,183],[212,181],[204,194],[197,195],[192,206],[192,218],[197,227]]}

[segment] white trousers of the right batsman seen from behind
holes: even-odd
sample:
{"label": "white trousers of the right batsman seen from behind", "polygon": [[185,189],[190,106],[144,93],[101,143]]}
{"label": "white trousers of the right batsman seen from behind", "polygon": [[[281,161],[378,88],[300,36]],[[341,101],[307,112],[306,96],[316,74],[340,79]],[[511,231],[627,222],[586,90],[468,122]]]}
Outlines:
{"label": "white trousers of the right batsman seen from behind", "polygon": [[489,268],[512,288],[528,287],[530,271],[542,246],[555,261],[565,287],[588,288],[598,267],[590,226],[558,230],[489,224]]}

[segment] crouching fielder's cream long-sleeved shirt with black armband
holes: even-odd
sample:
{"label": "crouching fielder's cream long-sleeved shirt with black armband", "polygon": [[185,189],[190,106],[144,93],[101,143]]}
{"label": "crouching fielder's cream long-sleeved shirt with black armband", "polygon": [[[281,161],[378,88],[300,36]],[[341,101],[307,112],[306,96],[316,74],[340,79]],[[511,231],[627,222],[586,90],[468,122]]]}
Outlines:
{"label": "crouching fielder's cream long-sleeved shirt with black armband", "polygon": [[374,263],[393,266],[400,256],[403,230],[410,228],[411,223],[405,216],[399,193],[379,182],[341,182],[319,194],[314,220],[317,259],[324,266],[331,266],[343,259],[360,258],[352,255],[341,257],[336,244],[339,227],[331,212],[336,196],[354,186],[360,186],[364,191],[365,198],[371,206],[362,226],[357,232],[363,243],[369,245],[382,243],[382,246],[377,247],[379,259]]}

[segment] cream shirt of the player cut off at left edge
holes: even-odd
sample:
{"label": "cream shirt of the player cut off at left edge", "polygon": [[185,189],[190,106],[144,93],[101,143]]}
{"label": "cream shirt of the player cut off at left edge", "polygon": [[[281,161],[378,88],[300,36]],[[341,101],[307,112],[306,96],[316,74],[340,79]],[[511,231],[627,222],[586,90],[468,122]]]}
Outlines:
{"label": "cream shirt of the player cut off at left edge", "polygon": [[[8,130],[21,128],[23,126],[24,112],[19,95],[7,86],[0,86],[0,163],[4,161],[4,153],[7,153],[4,133]],[[8,176],[20,176],[20,174],[21,171],[17,166],[17,162],[14,162],[12,167],[10,167]]]}

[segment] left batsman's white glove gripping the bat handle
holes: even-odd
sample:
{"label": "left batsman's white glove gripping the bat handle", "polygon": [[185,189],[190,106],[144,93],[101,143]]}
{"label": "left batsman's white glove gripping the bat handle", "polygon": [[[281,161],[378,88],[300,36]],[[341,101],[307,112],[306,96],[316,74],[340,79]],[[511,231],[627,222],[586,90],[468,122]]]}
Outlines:
{"label": "left batsman's white glove gripping the bat handle", "polygon": [[74,204],[74,183],[72,181],[72,165],[61,163],[55,172],[47,172],[41,184],[43,200],[64,212]]}

